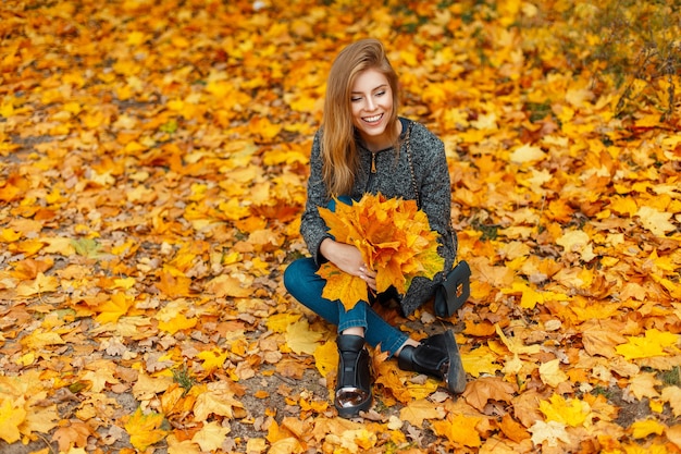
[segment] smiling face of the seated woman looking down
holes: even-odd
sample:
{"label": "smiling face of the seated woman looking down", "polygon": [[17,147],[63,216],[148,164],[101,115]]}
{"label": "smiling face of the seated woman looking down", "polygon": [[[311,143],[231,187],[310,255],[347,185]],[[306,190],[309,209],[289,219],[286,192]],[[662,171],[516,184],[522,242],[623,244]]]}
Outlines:
{"label": "smiling face of the seated woman looking down", "polygon": [[389,147],[386,127],[393,113],[393,90],[383,73],[369,69],[357,75],[351,87],[352,123],[372,151]]}

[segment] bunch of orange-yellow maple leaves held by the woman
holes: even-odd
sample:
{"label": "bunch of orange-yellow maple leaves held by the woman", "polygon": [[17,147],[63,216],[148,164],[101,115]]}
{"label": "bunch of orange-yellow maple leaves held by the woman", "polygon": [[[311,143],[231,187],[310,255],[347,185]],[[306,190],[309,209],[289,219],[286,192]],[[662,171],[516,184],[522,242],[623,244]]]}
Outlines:
{"label": "bunch of orange-yellow maple leaves held by the woman", "polygon": [[[351,244],[362,254],[364,262],[376,271],[376,291],[394,285],[406,294],[416,277],[433,279],[445,261],[437,254],[438,233],[431,230],[426,214],[416,200],[386,198],[382,194],[366,194],[359,201],[347,205],[338,199],[335,212],[319,208],[337,242]],[[360,300],[368,300],[367,283],[340,271],[331,262],[317,272],[326,280],[322,296],[340,300],[347,310]]]}

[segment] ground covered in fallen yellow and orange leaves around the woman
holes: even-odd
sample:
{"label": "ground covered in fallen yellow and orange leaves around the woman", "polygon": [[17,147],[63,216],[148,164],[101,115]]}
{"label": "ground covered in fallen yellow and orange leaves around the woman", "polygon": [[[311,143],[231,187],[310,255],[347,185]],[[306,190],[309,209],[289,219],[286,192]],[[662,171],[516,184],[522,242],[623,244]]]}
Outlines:
{"label": "ground covered in fallen yellow and orange leaves around the woman", "polygon": [[[680,81],[622,98],[580,65],[598,14],[4,1],[0,451],[680,452],[681,125],[656,102]],[[386,311],[456,329],[466,392],[376,353],[375,405],[348,421],[333,329],[281,275],[306,254],[324,78],[360,36],[446,143],[473,281],[450,320]]]}

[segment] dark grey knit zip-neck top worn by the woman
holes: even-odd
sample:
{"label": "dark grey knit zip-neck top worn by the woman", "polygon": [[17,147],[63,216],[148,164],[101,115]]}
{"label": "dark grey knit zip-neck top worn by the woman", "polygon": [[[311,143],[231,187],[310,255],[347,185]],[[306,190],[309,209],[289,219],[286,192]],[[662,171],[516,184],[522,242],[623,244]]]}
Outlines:
{"label": "dark grey knit zip-neck top worn by the woman", "polygon": [[[406,119],[400,121],[403,138],[407,128],[411,126],[409,137],[411,163],[420,198],[417,201],[426,213],[431,229],[439,233],[437,250],[445,259],[444,270],[450,270],[456,257],[456,235],[451,232],[451,186],[444,144],[423,125]],[[366,193],[381,193],[386,197],[417,198],[406,143],[403,142],[398,156],[394,148],[387,148],[376,152],[375,157],[372,157],[372,152],[361,143],[358,145],[361,169],[348,196],[359,199]],[[375,159],[375,173],[371,172],[372,159]],[[319,216],[318,207],[326,207],[329,203],[330,196],[322,180],[321,132],[318,131],[312,144],[308,198],[300,224],[300,233],[318,265],[325,261],[320,253],[320,245],[324,238],[330,237],[329,229]],[[432,281],[416,278],[403,297],[404,312],[412,314],[431,298],[435,284],[442,280],[443,272],[437,273]]]}

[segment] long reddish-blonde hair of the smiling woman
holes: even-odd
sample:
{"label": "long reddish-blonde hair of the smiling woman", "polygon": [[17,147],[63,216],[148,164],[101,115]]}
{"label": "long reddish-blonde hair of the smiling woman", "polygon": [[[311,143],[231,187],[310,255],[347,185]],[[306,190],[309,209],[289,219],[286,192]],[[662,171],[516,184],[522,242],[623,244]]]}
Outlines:
{"label": "long reddish-blonde hair of the smiling woman", "polygon": [[377,39],[361,39],[343,49],[331,66],[326,82],[326,98],[322,128],[323,179],[330,196],[346,195],[352,188],[359,168],[359,152],[355,142],[350,95],[357,76],[367,70],[381,72],[393,91],[393,112],[386,131],[397,145],[396,127],[399,94],[397,74]]}

